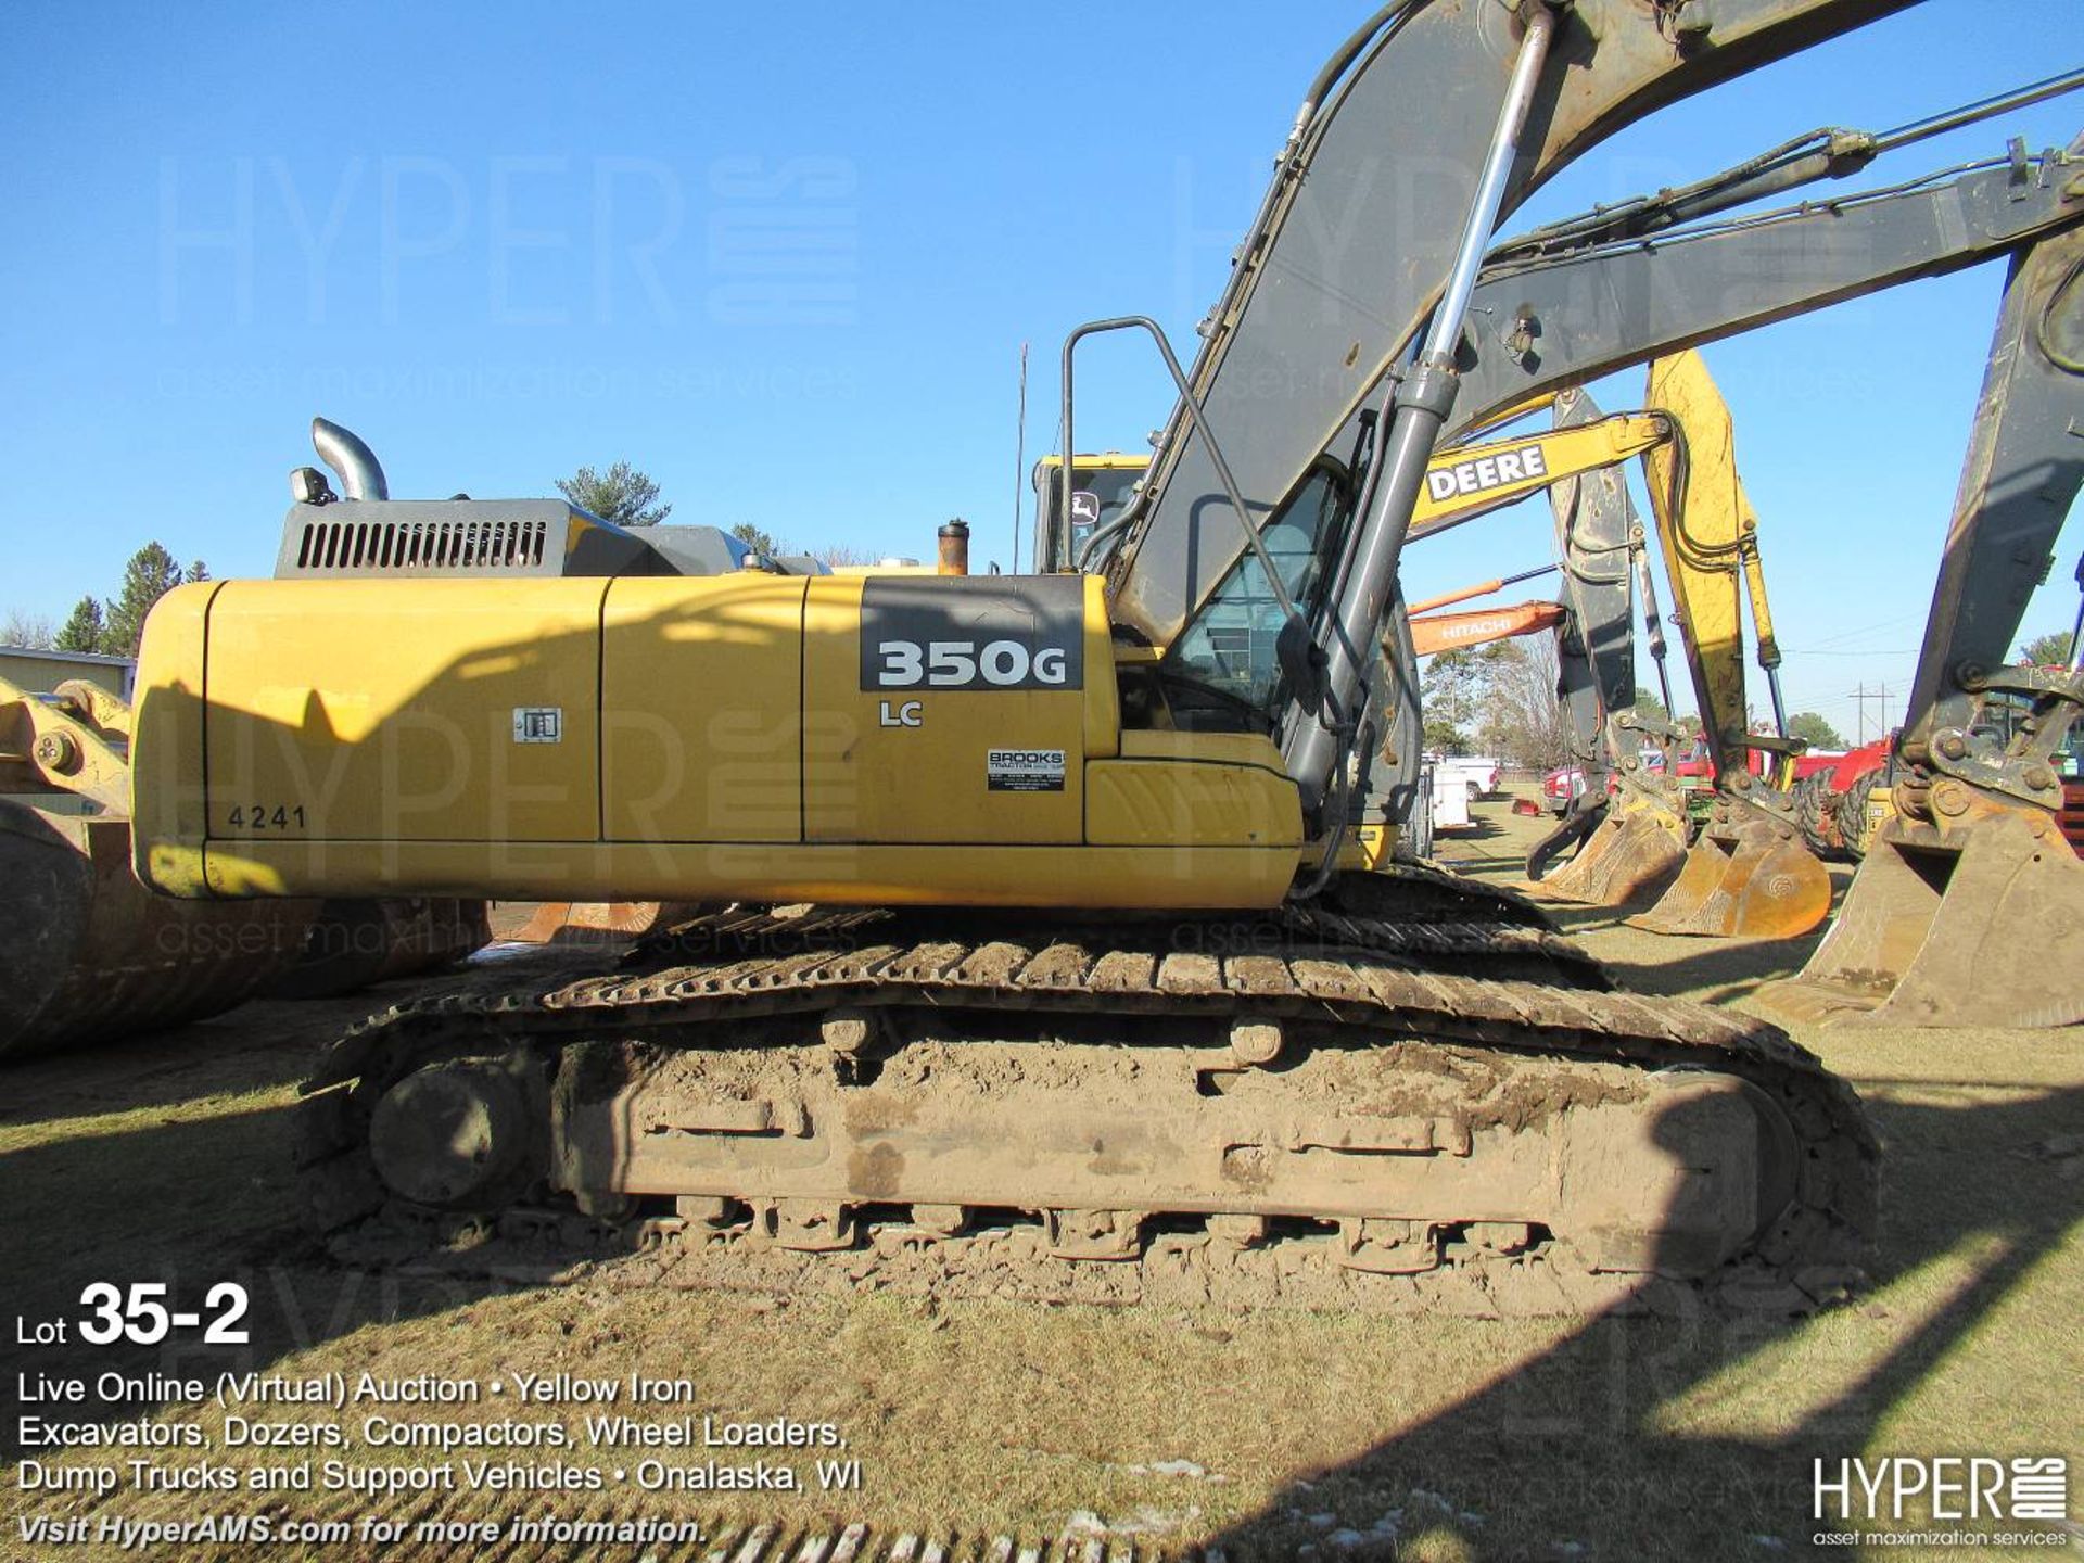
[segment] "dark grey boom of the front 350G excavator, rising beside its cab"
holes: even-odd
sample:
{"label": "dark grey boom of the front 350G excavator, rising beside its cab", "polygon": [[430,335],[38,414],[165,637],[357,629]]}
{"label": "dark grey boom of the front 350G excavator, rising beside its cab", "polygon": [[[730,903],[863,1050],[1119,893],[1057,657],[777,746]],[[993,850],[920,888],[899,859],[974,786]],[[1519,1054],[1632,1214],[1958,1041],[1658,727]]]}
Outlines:
{"label": "dark grey boom of the front 350G excavator, rising beside its cab", "polygon": [[[1621,125],[1911,2],[1561,6],[1498,213]],[[1503,0],[1386,4],[1307,90],[1188,377],[1255,517],[1298,488],[1325,431],[1380,400],[1434,313],[1534,13]],[[1392,173],[1407,163],[1438,177]],[[1242,552],[1209,442],[1182,406],[1109,569],[1115,621],[1171,646]],[[1348,629],[1353,646],[1373,644]]]}

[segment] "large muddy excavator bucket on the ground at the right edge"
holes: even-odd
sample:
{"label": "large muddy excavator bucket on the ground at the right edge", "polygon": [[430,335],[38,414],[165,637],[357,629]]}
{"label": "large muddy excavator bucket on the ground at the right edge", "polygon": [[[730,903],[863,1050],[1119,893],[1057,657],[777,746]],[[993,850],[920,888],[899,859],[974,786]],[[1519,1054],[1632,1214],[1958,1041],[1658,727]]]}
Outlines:
{"label": "large muddy excavator bucket on the ground at the right edge", "polygon": [[2055,817],[1992,809],[1953,842],[1911,836],[1882,829],[1830,936],[1759,1002],[1792,1021],[2084,1021],[2084,861]]}

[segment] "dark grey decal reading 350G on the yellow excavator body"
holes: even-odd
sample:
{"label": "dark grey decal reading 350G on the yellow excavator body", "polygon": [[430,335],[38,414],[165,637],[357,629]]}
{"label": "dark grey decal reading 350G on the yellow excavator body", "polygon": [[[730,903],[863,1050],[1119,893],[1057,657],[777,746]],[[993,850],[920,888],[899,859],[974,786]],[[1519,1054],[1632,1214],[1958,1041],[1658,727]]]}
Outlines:
{"label": "dark grey decal reading 350G on the yellow excavator body", "polygon": [[1086,584],[871,575],[861,588],[863,690],[1084,690]]}

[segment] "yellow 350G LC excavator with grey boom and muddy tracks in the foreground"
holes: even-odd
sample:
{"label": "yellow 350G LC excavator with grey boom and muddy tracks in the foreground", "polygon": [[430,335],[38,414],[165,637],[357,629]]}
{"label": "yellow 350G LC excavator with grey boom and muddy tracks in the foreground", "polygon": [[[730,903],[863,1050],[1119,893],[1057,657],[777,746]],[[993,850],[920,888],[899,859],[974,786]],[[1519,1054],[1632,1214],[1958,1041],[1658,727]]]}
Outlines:
{"label": "yellow 350G LC excavator with grey boom and muddy tracks in the foreground", "polygon": [[[150,619],[138,873],[725,911],[638,967],[356,1027],[300,1117],[315,1223],[377,1252],[659,1244],[717,1284],[1836,1294],[1876,1150],[1815,1059],[1613,992],[1519,896],[1340,861],[1440,438],[2084,217],[2057,179],[1911,225],[2009,177],[1976,169],[1832,202],[1846,242],[1761,267],[1817,210],[1717,221],[1751,163],[1688,194],[1688,242],[1486,265],[1598,135],[1890,8],[1386,6],[1311,83],[1194,373],[1165,348],[1182,394],[1094,573],[746,569],[700,527],[390,500],[321,427],[342,492],[294,475],[277,579]],[[1773,188],[1859,163],[1813,150]],[[1357,177],[1407,158],[1473,179]],[[1082,327],[1067,367],[1130,327]]]}

